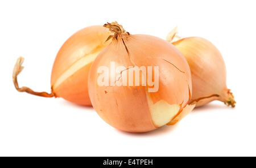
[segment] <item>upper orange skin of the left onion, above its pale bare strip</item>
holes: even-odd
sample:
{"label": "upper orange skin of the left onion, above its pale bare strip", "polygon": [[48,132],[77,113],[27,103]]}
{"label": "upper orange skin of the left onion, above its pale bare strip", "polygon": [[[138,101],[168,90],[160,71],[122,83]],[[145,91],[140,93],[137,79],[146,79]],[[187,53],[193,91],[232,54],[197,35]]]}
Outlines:
{"label": "upper orange skin of the left onion, above its pale bare strip", "polygon": [[68,38],[61,46],[52,67],[51,85],[73,63],[91,53],[96,48],[104,48],[104,42],[110,36],[108,29],[101,25],[86,27]]}

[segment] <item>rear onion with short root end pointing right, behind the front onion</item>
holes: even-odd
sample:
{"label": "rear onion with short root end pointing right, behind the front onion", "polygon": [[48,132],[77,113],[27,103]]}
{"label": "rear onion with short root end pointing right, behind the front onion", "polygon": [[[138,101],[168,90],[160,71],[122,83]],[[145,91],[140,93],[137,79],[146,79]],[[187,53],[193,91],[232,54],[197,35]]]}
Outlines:
{"label": "rear onion with short root end pointing right, behind the front onion", "polygon": [[233,93],[226,87],[226,67],[220,51],[201,37],[180,38],[177,28],[167,36],[187,59],[192,75],[193,95],[189,104],[203,106],[213,100],[234,107]]}

